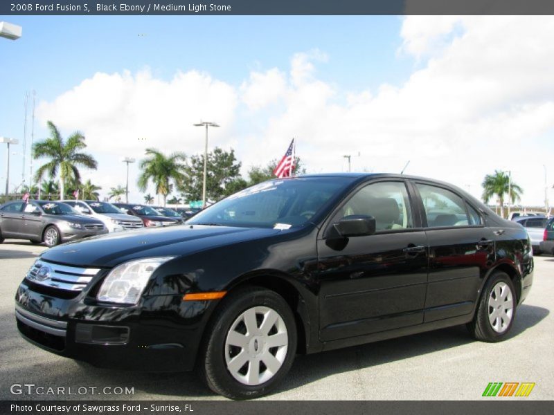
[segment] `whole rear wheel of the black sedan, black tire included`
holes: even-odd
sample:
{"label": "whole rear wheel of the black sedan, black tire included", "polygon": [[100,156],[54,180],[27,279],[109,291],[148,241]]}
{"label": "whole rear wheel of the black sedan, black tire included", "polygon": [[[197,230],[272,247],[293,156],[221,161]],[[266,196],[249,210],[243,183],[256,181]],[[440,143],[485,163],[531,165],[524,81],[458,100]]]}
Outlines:
{"label": "whole rear wheel of the black sedan, black tire included", "polygon": [[467,329],[477,340],[500,342],[512,329],[516,306],[512,280],[508,274],[497,271],[485,284],[474,319],[467,324]]}

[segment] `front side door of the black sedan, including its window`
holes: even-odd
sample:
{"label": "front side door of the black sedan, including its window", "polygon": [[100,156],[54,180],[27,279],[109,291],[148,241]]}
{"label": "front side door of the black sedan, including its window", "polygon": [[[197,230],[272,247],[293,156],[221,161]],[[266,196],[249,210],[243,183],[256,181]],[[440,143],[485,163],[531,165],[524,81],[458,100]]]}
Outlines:
{"label": "front side door of the black sedan, including its window", "polygon": [[375,218],[375,234],[317,241],[322,341],[420,324],[427,287],[427,239],[406,183],[363,185],[325,225],[353,214]]}

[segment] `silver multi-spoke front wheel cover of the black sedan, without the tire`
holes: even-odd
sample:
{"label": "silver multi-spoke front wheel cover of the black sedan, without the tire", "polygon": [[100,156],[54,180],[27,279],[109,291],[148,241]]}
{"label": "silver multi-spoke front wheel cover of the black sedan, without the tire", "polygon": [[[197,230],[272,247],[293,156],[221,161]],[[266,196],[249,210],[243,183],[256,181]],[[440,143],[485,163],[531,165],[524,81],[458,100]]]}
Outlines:
{"label": "silver multi-spoke front wheel cover of the black sedan, without the tire", "polygon": [[256,306],[240,314],[227,333],[227,370],[243,385],[261,385],[273,378],[287,357],[289,335],[274,309]]}

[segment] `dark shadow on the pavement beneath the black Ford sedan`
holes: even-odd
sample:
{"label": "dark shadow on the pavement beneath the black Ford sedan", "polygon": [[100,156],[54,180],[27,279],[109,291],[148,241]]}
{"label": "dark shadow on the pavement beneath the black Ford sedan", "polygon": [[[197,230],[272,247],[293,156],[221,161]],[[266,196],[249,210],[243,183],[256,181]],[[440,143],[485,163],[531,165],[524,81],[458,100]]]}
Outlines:
{"label": "dark shadow on the pavement beneath the black Ford sedan", "polygon": [[[546,308],[522,304],[517,309],[517,319],[509,338],[515,338],[527,329],[539,324],[548,313],[549,311]],[[10,328],[11,330],[12,328]],[[22,339],[21,342],[26,344]],[[346,349],[297,356],[290,373],[287,375],[287,380],[281,383],[274,394],[302,387],[328,376],[357,369],[377,367],[472,342],[476,342],[476,340],[467,333],[465,326],[454,326]],[[409,347],[406,347],[406,345],[409,345]],[[42,353],[44,352],[40,351],[41,356],[43,356]],[[204,383],[194,372],[144,373],[120,371],[100,369],[84,362],[75,362],[69,359],[57,358],[58,361],[55,362],[51,360],[50,356],[44,356],[44,359],[46,361],[40,365],[41,370],[48,372],[48,382],[54,384],[56,382],[57,384],[64,384],[64,381],[71,379],[74,385],[125,385],[134,387],[135,391],[139,391],[141,399],[155,399],[159,396],[192,399],[218,398],[204,386]],[[17,376],[21,378],[36,381],[37,367],[35,362],[22,361],[19,367],[12,368],[12,370],[17,371]],[[129,396],[80,396],[80,398],[125,399]]]}

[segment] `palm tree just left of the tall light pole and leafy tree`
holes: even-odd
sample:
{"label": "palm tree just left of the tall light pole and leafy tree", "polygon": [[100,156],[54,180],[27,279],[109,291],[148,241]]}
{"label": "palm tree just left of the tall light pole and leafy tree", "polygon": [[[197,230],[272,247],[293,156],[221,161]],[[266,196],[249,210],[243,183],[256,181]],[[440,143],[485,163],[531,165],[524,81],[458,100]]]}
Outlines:
{"label": "palm tree just left of the tall light pole and leafy tree", "polygon": [[163,205],[166,205],[168,194],[172,191],[172,183],[175,182],[176,187],[181,187],[185,180],[184,162],[185,154],[175,152],[166,157],[157,149],[146,149],[146,155],[149,156],[141,160],[139,167],[143,171],[139,176],[139,189],[144,192],[148,187],[148,182],[152,180],[156,187],[156,194],[163,196]]}

